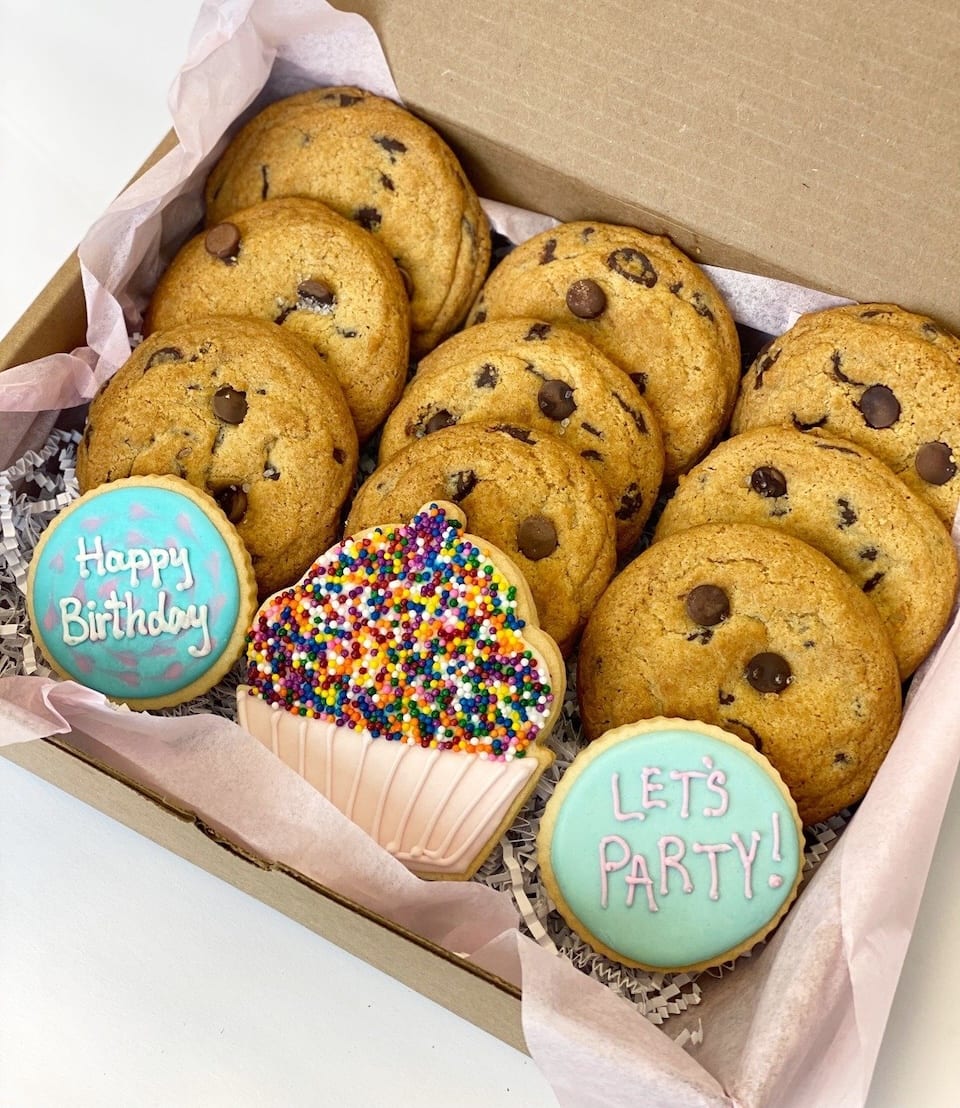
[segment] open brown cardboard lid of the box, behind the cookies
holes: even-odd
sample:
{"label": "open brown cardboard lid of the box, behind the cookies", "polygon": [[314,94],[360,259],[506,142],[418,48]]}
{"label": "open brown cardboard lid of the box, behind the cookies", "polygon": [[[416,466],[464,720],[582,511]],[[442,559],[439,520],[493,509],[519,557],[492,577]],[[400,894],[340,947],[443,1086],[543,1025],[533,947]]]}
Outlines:
{"label": "open brown cardboard lid of the box, behind the cookies", "polygon": [[337,6],[481,193],[960,330],[954,0]]}

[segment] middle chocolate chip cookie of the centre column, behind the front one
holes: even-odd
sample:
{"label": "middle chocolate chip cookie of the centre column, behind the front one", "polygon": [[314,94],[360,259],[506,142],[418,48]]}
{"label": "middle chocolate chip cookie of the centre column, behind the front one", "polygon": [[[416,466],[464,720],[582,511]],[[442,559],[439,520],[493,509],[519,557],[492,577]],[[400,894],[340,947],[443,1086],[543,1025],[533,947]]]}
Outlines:
{"label": "middle chocolate chip cookie of the centre column, behind the front one", "polygon": [[613,500],[617,550],[633,546],[663,478],[660,428],[626,373],[573,331],[504,319],[442,342],[387,420],[380,461],[441,427],[498,422],[574,449]]}

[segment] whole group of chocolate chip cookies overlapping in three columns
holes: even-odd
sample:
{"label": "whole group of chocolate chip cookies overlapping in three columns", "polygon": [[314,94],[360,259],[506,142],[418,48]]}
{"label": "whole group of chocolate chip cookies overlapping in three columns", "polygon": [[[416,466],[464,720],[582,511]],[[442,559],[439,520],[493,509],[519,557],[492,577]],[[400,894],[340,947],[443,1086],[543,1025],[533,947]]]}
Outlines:
{"label": "whole group of chocolate chip cookies overlapping in three columns", "polygon": [[579,645],[589,740],[697,720],[768,758],[803,823],[862,797],[953,606],[957,338],[838,308],[742,378],[728,309],[665,237],[568,223],[489,271],[455,155],[359,89],[256,115],[205,198],[91,406],[82,489],[205,490],[261,598],[344,530],[449,502]]}

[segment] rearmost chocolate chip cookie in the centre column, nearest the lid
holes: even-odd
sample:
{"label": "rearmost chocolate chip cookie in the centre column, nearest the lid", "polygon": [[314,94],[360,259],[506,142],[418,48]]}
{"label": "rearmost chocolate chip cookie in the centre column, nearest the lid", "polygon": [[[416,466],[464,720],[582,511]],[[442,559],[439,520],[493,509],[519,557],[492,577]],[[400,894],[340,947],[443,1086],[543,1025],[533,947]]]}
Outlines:
{"label": "rearmost chocolate chip cookie in the centre column, nearest the lid", "polygon": [[668,238],[583,222],[534,235],[493,270],[467,321],[518,316],[576,331],[630,375],[660,422],[668,478],[726,427],[737,331],[709,279]]}

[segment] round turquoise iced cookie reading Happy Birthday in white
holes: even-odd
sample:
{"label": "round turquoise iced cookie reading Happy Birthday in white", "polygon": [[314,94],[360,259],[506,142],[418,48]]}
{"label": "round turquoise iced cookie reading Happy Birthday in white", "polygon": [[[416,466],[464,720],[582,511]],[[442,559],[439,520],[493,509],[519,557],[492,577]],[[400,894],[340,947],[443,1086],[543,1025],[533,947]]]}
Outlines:
{"label": "round turquoise iced cookie reading Happy Birthday in white", "polygon": [[131,708],[212,688],[256,611],[249,555],[214,500],[180,478],[126,478],[73,501],[27,577],[34,639],[61,677]]}

